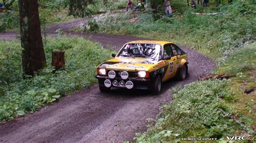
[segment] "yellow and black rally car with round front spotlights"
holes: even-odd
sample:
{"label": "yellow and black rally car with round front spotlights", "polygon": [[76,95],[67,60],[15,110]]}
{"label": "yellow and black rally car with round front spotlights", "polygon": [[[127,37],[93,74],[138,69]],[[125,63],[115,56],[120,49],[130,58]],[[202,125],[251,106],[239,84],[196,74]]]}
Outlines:
{"label": "yellow and black rally car with round front spotlights", "polygon": [[162,83],[188,74],[187,53],[168,41],[127,42],[114,57],[97,67],[100,91],[111,87],[161,91]]}

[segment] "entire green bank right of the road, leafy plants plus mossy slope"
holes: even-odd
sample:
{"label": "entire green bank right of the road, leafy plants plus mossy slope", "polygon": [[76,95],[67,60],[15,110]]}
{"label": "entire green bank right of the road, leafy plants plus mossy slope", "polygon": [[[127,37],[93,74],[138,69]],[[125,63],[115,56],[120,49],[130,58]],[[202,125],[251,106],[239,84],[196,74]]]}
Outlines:
{"label": "entire green bank right of the road, leafy plants plus mossy slope", "polygon": [[[255,137],[255,92],[242,91],[255,86],[256,43],[232,53],[215,73],[232,73],[232,80],[208,80],[187,84],[161,106],[161,117],[136,140],[148,142],[181,141],[181,138],[218,138],[241,135]],[[246,82],[245,82],[246,80]],[[174,88],[175,91],[175,88]],[[226,117],[229,113],[245,126]]]}

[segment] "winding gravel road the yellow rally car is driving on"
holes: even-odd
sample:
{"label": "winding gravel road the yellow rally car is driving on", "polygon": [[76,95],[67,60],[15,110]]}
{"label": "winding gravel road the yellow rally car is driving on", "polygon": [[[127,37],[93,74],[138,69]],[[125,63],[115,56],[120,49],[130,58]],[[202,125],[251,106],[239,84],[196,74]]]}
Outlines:
{"label": "winding gravel road the yellow rally car is driving on", "polygon": [[[79,23],[79,20],[76,20]],[[52,25],[50,31],[70,25]],[[49,31],[49,33],[51,33]],[[125,42],[142,38],[107,34],[69,33],[91,38],[106,47],[120,47]],[[7,38],[8,37],[8,38]],[[0,33],[0,39],[17,38],[17,33]],[[188,72],[184,81],[168,81],[163,93],[151,95],[144,90],[114,89],[102,93],[98,85],[68,95],[36,113],[0,124],[0,142],[123,142],[136,132],[146,131],[147,118],[155,118],[160,103],[172,99],[172,87],[197,80],[210,73],[215,63],[200,53],[181,46],[188,53]],[[111,53],[110,53],[111,54]]]}

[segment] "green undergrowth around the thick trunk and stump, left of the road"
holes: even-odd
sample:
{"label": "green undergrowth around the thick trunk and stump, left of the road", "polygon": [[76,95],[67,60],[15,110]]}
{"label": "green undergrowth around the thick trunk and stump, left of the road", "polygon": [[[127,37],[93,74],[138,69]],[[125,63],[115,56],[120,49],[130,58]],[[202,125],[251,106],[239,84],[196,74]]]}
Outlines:
{"label": "green undergrowth around the thick trunk and stump, left of the road", "polygon": [[[35,112],[46,103],[96,83],[96,66],[111,51],[83,38],[48,38],[48,67],[33,78],[23,79],[19,40],[0,41],[0,121]],[[51,52],[65,51],[65,69],[52,73]]]}

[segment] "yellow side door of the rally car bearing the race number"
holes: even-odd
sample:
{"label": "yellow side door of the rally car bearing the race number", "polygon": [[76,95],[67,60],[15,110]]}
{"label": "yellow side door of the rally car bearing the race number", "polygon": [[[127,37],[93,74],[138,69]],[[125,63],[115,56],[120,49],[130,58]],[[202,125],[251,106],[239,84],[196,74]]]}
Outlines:
{"label": "yellow side door of the rally car bearing the race number", "polygon": [[170,78],[174,77],[176,74],[177,69],[174,68],[176,67],[176,62],[177,62],[177,56],[173,56],[172,53],[172,48],[170,44],[164,45],[164,50],[163,50],[163,56],[171,56],[170,60],[165,60],[165,63],[168,63],[167,71],[165,72],[165,75],[163,77],[163,82],[169,80]]}

